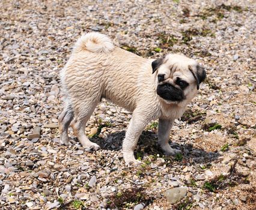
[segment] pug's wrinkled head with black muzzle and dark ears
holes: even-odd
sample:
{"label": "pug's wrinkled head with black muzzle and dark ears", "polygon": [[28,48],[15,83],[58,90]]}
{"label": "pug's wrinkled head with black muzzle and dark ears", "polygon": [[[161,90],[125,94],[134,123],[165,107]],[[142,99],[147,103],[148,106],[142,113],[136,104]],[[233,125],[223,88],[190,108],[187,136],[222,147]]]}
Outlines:
{"label": "pug's wrinkled head with black muzzle and dark ears", "polygon": [[169,54],[151,64],[156,74],[156,92],[166,103],[188,103],[195,97],[206,71],[194,59]]}

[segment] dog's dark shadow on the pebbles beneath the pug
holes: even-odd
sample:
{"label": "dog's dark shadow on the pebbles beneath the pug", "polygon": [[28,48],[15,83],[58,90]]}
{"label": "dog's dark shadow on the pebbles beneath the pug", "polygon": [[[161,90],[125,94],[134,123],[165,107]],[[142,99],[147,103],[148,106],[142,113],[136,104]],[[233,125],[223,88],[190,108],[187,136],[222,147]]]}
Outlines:
{"label": "dog's dark shadow on the pebbles beneath the pug", "polygon": [[[117,133],[109,134],[106,138],[95,136],[92,137],[91,140],[92,142],[100,145],[101,149],[120,151],[124,137],[125,131],[118,131]],[[187,162],[194,164],[209,164],[219,157],[218,152],[204,151],[203,149],[195,148],[194,146],[186,143],[181,144],[172,142],[171,147],[181,150],[181,155],[171,157],[172,160],[183,160],[184,164]],[[157,133],[154,133],[153,131],[143,131],[135,149],[135,158],[142,158],[147,155],[153,155],[156,157],[157,154],[159,154],[159,157],[166,157],[160,146],[157,144]]]}

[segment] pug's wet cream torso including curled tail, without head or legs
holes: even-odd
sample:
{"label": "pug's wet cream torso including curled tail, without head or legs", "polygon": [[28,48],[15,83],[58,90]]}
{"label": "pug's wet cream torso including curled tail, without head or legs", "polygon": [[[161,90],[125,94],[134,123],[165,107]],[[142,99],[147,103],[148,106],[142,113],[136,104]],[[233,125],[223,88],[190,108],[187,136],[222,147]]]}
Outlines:
{"label": "pug's wet cream torso including curled tail, without head or legs", "polygon": [[[151,71],[148,71],[151,62],[146,61],[114,46],[104,34],[88,33],[78,39],[72,56],[61,71],[62,87],[67,96],[73,98],[73,103],[78,105],[88,97],[97,100],[103,97],[133,111],[135,101],[138,101],[138,91],[147,91],[136,86],[151,84],[147,79],[151,77]],[[147,67],[142,68],[142,64]],[[143,70],[148,72],[144,73]]]}

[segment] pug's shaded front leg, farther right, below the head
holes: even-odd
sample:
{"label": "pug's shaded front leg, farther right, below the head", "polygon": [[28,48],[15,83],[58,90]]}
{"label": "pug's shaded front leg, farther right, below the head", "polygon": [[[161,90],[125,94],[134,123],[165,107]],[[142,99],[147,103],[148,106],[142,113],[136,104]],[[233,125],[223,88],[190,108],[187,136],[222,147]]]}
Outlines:
{"label": "pug's shaded front leg, farther right, below the head", "polygon": [[175,155],[181,151],[172,149],[169,145],[169,134],[171,131],[173,121],[169,119],[159,119],[158,125],[158,143],[167,155]]}

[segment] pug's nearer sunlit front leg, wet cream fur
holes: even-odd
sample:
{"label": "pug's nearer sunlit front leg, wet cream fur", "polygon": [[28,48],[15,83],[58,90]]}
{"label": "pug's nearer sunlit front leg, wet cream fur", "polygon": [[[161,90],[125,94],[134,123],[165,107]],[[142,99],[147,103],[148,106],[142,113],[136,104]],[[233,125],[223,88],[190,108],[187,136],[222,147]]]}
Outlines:
{"label": "pug's nearer sunlit front leg, wet cream fur", "polygon": [[141,136],[142,131],[150,121],[148,116],[142,113],[133,112],[132,119],[130,121],[129,127],[126,131],[126,137],[123,141],[123,157],[126,164],[138,164],[141,163],[134,157],[134,149],[138,143],[139,136]]}

